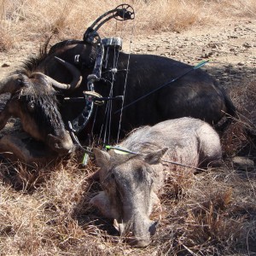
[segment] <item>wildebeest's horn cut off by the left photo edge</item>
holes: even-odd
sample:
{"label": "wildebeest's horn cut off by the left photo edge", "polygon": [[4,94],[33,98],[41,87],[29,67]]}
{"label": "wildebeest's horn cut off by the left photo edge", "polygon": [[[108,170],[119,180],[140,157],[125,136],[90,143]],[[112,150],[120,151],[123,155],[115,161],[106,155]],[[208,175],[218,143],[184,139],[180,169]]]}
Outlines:
{"label": "wildebeest's horn cut off by the left photo edge", "polygon": [[0,95],[3,93],[15,93],[22,86],[22,75],[14,74],[0,81]]}

